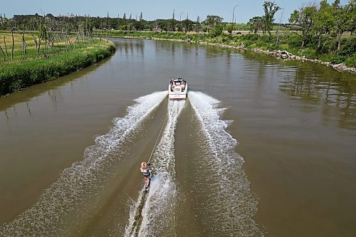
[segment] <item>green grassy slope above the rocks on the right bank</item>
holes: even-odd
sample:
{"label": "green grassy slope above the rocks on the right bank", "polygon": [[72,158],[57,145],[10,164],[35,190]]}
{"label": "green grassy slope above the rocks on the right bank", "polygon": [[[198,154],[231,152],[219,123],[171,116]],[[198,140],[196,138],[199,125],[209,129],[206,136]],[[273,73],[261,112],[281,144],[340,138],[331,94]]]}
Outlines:
{"label": "green grassy slope above the rocks on the right bank", "polygon": [[[108,36],[114,37],[147,37],[147,38],[163,38],[177,39],[197,42],[198,40],[206,43],[220,43],[228,46],[245,46],[246,48],[261,48],[271,51],[288,51],[296,56],[305,56],[330,63],[345,63],[348,67],[356,68],[356,36],[342,38],[342,48],[337,51],[337,41],[330,39],[327,36],[323,38],[322,46],[315,46],[318,38],[309,38],[306,46],[301,48],[302,36],[299,33],[282,31],[279,36],[276,34],[258,35],[249,33],[246,35],[228,35],[222,33],[219,36],[211,36],[209,34],[197,33],[182,33],[182,32],[159,32],[152,31],[110,31],[105,33]],[[278,37],[278,43],[277,43]]]}

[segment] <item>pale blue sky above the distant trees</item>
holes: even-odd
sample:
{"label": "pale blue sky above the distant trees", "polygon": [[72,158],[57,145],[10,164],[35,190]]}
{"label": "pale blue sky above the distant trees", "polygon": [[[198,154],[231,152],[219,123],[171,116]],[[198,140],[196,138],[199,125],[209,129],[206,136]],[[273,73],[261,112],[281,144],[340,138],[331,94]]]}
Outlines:
{"label": "pale blue sky above the distant trees", "polygon": [[[332,3],[334,0],[328,0]],[[275,1],[282,10],[275,15],[275,22],[279,22],[282,16],[282,23],[288,22],[290,14],[303,6],[303,4],[315,3],[320,0],[276,0]],[[348,0],[341,0],[341,4],[347,4]],[[132,14],[132,19],[140,17],[142,12],[143,19],[152,21],[155,19],[171,19],[174,10],[175,19],[186,19],[192,21],[197,20],[199,15],[201,21],[206,19],[207,15],[218,15],[224,18],[224,21],[231,22],[234,6],[234,17],[236,23],[246,23],[253,16],[262,16],[263,0],[179,0],[179,1],[164,1],[164,0],[12,0],[4,1],[0,6],[0,14],[6,14],[7,18],[14,15],[23,14],[48,14],[54,16],[74,14],[74,15],[90,15],[90,16],[107,16],[122,17],[126,13],[127,18]]]}

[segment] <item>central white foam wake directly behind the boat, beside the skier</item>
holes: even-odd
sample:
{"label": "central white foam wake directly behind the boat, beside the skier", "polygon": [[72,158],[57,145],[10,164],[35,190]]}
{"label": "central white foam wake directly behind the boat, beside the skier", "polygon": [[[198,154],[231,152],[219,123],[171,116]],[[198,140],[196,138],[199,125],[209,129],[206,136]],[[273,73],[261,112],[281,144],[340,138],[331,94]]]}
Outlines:
{"label": "central white foam wake directly behind the boat, beside the skier", "polygon": [[[177,195],[174,167],[174,132],[185,101],[169,101],[167,125],[157,144],[152,163],[157,175],[141,210],[142,221],[132,231],[132,217],[126,226],[125,236],[169,236],[174,233],[174,206]],[[140,202],[137,200],[137,202]],[[131,215],[137,215],[137,205],[132,206]]]}

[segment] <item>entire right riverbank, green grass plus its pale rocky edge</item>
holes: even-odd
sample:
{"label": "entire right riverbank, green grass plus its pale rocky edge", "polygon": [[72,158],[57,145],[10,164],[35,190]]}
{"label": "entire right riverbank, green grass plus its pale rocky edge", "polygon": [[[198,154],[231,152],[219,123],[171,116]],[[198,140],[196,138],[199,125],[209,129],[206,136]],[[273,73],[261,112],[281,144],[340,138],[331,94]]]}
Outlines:
{"label": "entire right riverbank, green grass plus its pale rocky edge", "polygon": [[[276,36],[258,36],[254,34],[246,36],[221,35],[210,37],[207,34],[198,35],[197,33],[155,33],[142,31],[112,31],[107,34],[110,37],[119,38],[145,38],[152,40],[176,41],[187,43],[199,43],[202,45],[218,46],[223,48],[234,48],[243,51],[253,51],[275,56],[282,60],[301,60],[312,63],[320,63],[333,67],[338,71],[346,71],[356,74],[356,37],[345,39],[345,47],[340,52],[315,53],[312,48],[293,48],[286,42],[276,44]],[[291,41],[291,40],[290,40]],[[326,46],[325,46],[326,47]],[[347,48],[348,47],[348,48]],[[346,52],[346,53],[345,53]]]}

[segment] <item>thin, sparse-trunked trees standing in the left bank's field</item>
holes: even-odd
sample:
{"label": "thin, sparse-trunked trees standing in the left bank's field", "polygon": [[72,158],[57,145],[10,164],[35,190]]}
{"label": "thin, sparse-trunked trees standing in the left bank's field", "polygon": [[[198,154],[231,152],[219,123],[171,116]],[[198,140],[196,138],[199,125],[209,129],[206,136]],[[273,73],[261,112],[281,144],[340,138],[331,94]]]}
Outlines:
{"label": "thin, sparse-trunked trees standing in the left bank's field", "polygon": [[0,39],[0,53],[4,61],[8,60],[10,56],[11,60],[14,60],[16,55],[14,53],[16,51],[14,38],[16,38],[15,34],[20,34],[22,56],[27,56],[28,42],[26,38],[30,35],[33,45],[36,47],[34,54],[37,57],[48,58],[52,53],[58,51],[69,51],[73,48],[88,46],[90,42],[93,42],[92,29],[91,21],[87,16],[66,17],[35,14],[15,15],[13,19],[6,19],[0,14],[0,30],[11,33],[11,46],[6,44],[6,36]]}

